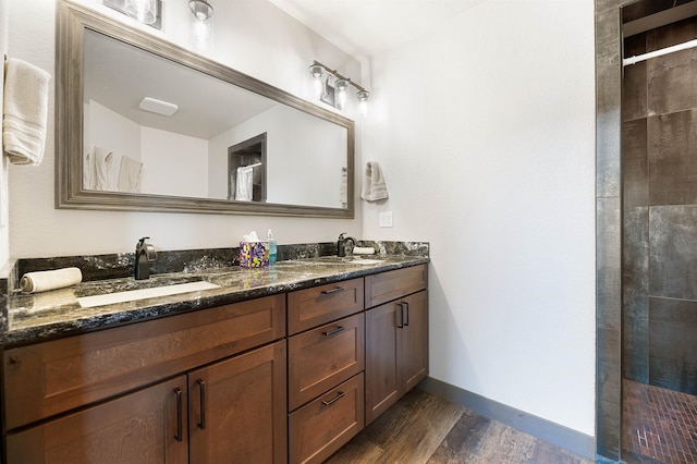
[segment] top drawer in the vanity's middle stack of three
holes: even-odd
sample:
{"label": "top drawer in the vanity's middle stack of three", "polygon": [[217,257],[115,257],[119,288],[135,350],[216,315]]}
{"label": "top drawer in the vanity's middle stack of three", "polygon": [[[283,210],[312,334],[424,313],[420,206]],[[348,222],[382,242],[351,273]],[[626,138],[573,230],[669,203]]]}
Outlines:
{"label": "top drawer in the vanity's middle stack of three", "polygon": [[363,310],[363,278],[288,294],[288,332],[292,335]]}

